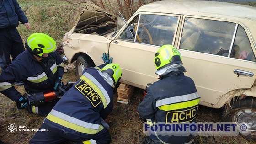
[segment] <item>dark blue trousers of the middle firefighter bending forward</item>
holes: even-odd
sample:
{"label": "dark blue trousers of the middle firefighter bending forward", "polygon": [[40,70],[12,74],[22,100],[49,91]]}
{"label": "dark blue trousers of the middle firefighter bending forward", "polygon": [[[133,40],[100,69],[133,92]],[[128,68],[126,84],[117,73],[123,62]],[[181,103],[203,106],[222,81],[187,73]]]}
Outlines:
{"label": "dark blue trousers of the middle firefighter bending forward", "polygon": [[110,134],[106,128],[93,136],[86,137],[75,130],[67,130],[56,128],[50,123],[43,123],[40,129],[48,129],[49,131],[37,132],[30,140],[29,144],[63,144],[72,141],[76,144],[83,144],[83,141],[93,139],[97,144],[109,144],[111,141]]}

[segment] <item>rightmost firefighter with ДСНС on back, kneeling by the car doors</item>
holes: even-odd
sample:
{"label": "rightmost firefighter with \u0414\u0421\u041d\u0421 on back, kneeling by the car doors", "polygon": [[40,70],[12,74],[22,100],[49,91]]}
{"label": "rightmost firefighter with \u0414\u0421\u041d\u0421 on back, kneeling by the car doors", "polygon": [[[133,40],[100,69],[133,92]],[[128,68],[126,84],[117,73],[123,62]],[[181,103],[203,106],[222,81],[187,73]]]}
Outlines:
{"label": "rightmost firefighter with \u0414\u0421\u041d\u0421 on back, kneeling by the car doors", "polygon": [[[160,78],[146,89],[147,95],[138,107],[139,116],[146,119],[148,124],[195,122],[200,96],[194,81],[184,75],[186,70],[182,65],[180,52],[172,45],[163,45],[155,53],[154,65],[157,69],[155,74]],[[155,135],[147,136],[146,143],[193,143],[192,135]]]}

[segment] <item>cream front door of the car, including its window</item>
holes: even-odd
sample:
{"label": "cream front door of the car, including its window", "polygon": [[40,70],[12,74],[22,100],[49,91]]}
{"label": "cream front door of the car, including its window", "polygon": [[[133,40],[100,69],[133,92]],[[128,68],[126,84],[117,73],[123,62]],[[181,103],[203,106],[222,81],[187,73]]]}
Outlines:
{"label": "cream front door of the car, including its window", "polygon": [[179,15],[139,13],[128,21],[129,28],[123,28],[109,47],[113,62],[122,68],[121,81],[145,88],[147,83],[157,80],[155,52],[163,44],[174,43],[179,18]]}

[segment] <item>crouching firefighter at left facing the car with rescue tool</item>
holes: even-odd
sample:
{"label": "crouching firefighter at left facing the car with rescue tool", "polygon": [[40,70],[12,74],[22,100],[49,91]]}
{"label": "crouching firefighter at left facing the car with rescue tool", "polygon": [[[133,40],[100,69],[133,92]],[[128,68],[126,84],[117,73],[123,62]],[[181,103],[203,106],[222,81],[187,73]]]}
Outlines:
{"label": "crouching firefighter at left facing the car with rescue tool", "polygon": [[[19,54],[0,75],[0,92],[15,101],[18,109],[27,107],[27,100],[12,83],[23,81],[28,94],[53,91],[60,84],[64,69],[52,37],[34,33],[28,37],[25,47],[27,50]],[[27,109],[29,112],[47,115],[55,103],[48,102],[40,107],[29,106]]]}

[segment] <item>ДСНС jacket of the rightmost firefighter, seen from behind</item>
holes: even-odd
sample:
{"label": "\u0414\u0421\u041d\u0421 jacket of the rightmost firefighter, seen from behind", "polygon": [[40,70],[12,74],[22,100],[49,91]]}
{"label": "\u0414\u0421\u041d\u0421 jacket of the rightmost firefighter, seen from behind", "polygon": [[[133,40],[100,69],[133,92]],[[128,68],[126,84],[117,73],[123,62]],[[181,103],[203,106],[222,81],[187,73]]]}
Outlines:
{"label": "\u0414\u0421\u041d\u0421 jacket of the rightmost firefighter, seen from behind", "polygon": [[[168,124],[195,122],[200,96],[193,80],[181,70],[171,72],[146,89],[147,95],[139,104],[140,117],[148,124],[161,122]],[[183,144],[192,140],[190,136],[151,135],[162,143]]]}

